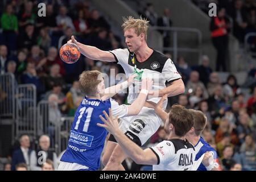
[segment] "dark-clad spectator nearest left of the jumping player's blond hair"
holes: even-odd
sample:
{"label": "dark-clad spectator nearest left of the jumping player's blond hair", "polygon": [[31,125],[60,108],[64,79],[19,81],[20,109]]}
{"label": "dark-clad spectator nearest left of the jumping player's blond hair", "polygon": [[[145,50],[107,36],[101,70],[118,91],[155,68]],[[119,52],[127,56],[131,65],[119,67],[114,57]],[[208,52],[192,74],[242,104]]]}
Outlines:
{"label": "dark-clad spectator nearest left of the jumping player's blond hair", "polygon": [[92,10],[91,16],[88,19],[89,27],[92,32],[97,32],[100,28],[104,28],[105,30],[110,30],[110,25],[104,18],[104,16],[100,16],[98,10]]}

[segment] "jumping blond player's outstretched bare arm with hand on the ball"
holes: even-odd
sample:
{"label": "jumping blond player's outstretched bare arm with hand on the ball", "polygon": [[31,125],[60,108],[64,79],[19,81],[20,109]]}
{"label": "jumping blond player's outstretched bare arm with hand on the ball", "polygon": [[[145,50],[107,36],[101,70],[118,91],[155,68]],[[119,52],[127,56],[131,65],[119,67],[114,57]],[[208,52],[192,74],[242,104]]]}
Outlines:
{"label": "jumping blond player's outstretched bare arm with hand on the ball", "polygon": [[71,37],[71,40],[68,43],[74,43],[79,47],[79,51],[86,57],[92,60],[100,60],[106,62],[115,62],[115,57],[112,53],[108,51],[102,51],[97,47],[86,46],[85,44],[77,42],[74,36]]}

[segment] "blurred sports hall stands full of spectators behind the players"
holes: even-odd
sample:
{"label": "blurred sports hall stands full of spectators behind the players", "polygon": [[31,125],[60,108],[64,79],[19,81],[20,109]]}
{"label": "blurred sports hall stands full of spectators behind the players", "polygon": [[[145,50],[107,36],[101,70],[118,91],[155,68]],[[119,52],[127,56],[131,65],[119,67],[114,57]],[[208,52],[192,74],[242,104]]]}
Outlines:
{"label": "blurred sports hall stands full of spectators behind the players", "polygon": [[[46,17],[38,16],[40,2],[47,5]],[[227,33],[221,39],[213,34],[210,2],[225,9]],[[125,48],[121,24],[128,15],[150,20],[149,46],[171,57],[183,76],[186,91],[169,98],[168,107],[178,103],[207,115],[203,137],[216,148],[224,170],[236,163],[255,170],[255,7],[254,0],[0,1],[0,170],[10,169],[22,134],[30,136],[32,150],[40,147],[40,135],[49,135],[49,150],[61,156],[82,99],[80,73],[98,69],[109,74],[110,86],[123,69],[84,56],[66,64],[59,48],[71,35],[106,51]],[[126,96],[114,99],[123,104]],[[145,146],[166,137],[160,128]],[[131,159],[123,164],[127,170],[151,169]]]}

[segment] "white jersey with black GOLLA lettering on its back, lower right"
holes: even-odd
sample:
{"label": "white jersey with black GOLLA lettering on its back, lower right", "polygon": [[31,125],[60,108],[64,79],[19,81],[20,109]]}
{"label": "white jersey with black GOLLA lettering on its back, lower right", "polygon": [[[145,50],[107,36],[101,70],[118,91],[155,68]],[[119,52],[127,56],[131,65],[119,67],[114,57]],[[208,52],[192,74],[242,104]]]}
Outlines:
{"label": "white jersey with black GOLLA lettering on its back, lower right", "polygon": [[153,165],[154,171],[190,171],[195,162],[196,151],[188,141],[164,140],[150,148],[158,158],[158,165]]}

